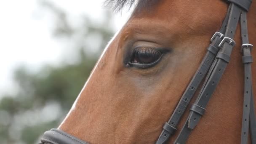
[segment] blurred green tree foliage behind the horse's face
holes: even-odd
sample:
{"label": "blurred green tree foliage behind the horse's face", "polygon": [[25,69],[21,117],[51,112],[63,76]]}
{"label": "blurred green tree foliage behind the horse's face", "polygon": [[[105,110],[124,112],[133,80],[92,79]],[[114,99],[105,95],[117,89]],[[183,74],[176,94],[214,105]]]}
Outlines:
{"label": "blurred green tree foliage behind the horse's face", "polygon": [[[56,128],[82,89],[100,48],[104,48],[113,35],[113,30],[108,28],[112,17],[107,11],[104,13],[107,18],[101,24],[93,24],[88,16],[83,16],[81,27],[73,27],[63,10],[45,1],[41,4],[55,15],[53,35],[71,40],[74,51],[79,53],[79,61],[58,67],[45,65],[38,72],[30,72],[26,66],[16,69],[18,92],[0,100],[1,144],[37,143],[44,131]],[[96,53],[86,52],[88,45],[92,46],[88,43],[91,35],[98,37],[94,40],[97,45],[92,47],[99,47]]]}

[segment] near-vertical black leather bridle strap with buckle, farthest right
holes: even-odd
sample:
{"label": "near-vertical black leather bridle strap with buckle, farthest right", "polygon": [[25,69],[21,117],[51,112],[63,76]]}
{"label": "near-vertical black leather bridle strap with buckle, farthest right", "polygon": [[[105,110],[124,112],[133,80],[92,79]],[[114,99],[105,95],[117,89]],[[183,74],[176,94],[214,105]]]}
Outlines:
{"label": "near-vertical black leather bridle strap with buckle, farthest right", "polygon": [[[241,130],[241,144],[248,143],[249,124],[251,125],[251,141],[253,144],[256,143],[255,127],[256,120],[254,114],[253,105],[253,90],[252,90],[252,72],[251,63],[253,62],[251,56],[252,45],[249,44],[248,40],[248,29],[246,12],[241,13],[240,17],[241,24],[241,36],[242,36],[242,51],[243,51],[243,64],[244,64],[244,101],[243,101],[243,119],[242,119],[242,130]],[[251,117],[251,118],[250,118]],[[254,119],[254,120],[253,120]],[[253,128],[254,125],[254,128]],[[253,132],[254,129],[254,132]]]}

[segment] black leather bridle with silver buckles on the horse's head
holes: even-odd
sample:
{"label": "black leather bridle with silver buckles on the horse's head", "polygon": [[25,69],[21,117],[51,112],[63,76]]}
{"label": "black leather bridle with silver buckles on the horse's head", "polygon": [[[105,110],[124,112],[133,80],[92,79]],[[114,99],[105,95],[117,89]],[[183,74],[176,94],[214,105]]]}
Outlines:
{"label": "black leather bridle with silver buckles on the horse's head", "polygon": [[[207,48],[208,51],[203,58],[203,61],[183,93],[170,119],[163,125],[163,131],[157,139],[156,144],[165,144],[170,136],[176,132],[176,127],[181,120],[182,115],[187,109],[195,91],[207,74],[195,103],[192,104],[192,107],[189,109],[189,116],[174,142],[174,144],[186,143],[189,134],[195,128],[197,123],[199,123],[200,118],[204,115],[206,105],[208,104],[213,91],[216,89],[227,64],[229,63],[232,48],[235,46],[233,38],[239,19],[242,37],[241,52],[243,53],[242,61],[244,64],[244,101],[241,144],[248,143],[249,129],[251,133],[251,143],[256,144],[256,117],[254,112],[251,72],[251,63],[253,62],[251,50],[253,45],[249,44],[246,19],[246,14],[250,8],[252,0],[227,1],[230,4],[221,29],[219,32],[215,32],[211,38],[211,44]],[[41,142],[41,144],[88,144],[87,142],[59,129],[46,131]]]}

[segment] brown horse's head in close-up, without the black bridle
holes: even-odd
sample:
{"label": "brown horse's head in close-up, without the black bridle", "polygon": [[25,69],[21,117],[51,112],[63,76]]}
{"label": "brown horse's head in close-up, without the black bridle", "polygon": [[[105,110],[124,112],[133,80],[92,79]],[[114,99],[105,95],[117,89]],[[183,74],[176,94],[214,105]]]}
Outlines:
{"label": "brown horse's head in close-up, without the black bridle", "polygon": [[[126,2],[115,1],[117,9]],[[105,48],[59,129],[91,144],[155,143],[227,9],[223,0],[140,0]],[[255,2],[247,18],[249,40],[256,45]],[[240,142],[244,91],[240,24],[234,40],[231,60],[188,144]],[[256,57],[256,51],[252,55]],[[130,67],[129,61],[137,64]],[[188,111],[178,131],[187,115]]]}

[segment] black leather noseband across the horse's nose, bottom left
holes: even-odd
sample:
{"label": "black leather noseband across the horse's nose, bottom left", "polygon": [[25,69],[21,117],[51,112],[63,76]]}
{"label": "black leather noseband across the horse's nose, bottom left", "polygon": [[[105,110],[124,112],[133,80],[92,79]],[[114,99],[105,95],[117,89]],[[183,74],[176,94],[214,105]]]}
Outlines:
{"label": "black leather noseband across the horse's nose, bottom left", "polygon": [[89,144],[88,142],[82,141],[75,136],[71,136],[64,131],[59,129],[51,129],[46,131],[41,138],[40,144]]}

